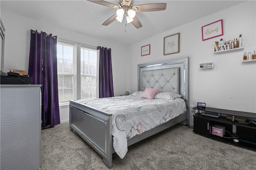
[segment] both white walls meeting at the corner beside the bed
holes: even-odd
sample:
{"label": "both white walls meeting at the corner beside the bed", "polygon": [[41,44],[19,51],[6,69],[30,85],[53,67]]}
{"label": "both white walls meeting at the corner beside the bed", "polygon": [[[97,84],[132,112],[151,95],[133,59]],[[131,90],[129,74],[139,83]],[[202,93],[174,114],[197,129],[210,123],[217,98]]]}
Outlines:
{"label": "both white walls meeting at the corner beside the bed", "polygon": [[[197,102],[205,102],[208,107],[255,113],[256,61],[241,62],[244,51],[253,52],[256,47],[255,6],[255,1],[248,1],[216,14],[202,16],[203,18],[199,20],[130,45],[129,54],[122,53],[127,51],[125,45],[1,9],[1,18],[6,28],[4,70],[8,71],[9,68],[28,70],[30,29],[37,29],[62,39],[111,48],[115,96],[123,94],[126,90],[130,93],[138,90],[137,64],[189,56],[190,106],[196,106]],[[221,19],[224,35],[202,41],[201,27]],[[163,39],[174,33],[180,33],[180,53],[164,56]],[[220,38],[224,40],[238,38],[239,34],[243,34],[244,50],[213,53],[214,41],[219,41]],[[141,57],[140,47],[148,44],[151,47],[151,54]],[[199,69],[200,63],[208,62],[214,63],[213,69]],[[125,74],[127,78],[123,76]],[[60,109],[60,119],[61,122],[68,121],[68,107]]]}

